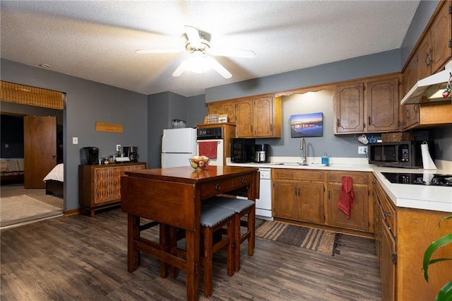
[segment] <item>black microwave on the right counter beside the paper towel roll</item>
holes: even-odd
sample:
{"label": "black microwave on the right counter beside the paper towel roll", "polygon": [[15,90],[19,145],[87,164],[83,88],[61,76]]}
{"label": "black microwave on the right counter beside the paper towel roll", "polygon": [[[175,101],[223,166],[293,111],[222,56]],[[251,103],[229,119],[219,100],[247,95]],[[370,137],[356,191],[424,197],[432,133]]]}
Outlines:
{"label": "black microwave on the right counter beside the paper towel roll", "polygon": [[[422,168],[422,141],[400,141],[369,144],[369,164],[391,167]],[[427,142],[434,159],[433,143]]]}

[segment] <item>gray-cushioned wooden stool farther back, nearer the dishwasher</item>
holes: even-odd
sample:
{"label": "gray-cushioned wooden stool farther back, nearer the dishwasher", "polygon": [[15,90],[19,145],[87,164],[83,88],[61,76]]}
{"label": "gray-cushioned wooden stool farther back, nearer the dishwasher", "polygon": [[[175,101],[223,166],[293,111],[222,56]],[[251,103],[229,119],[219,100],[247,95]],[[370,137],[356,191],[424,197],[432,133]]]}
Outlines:
{"label": "gray-cushioned wooden stool farther back, nearer the dishwasher", "polygon": [[[248,255],[253,256],[255,244],[255,223],[256,223],[256,203],[248,199],[232,199],[225,196],[214,196],[203,204],[227,208],[235,212],[234,214],[234,270],[240,271],[240,244],[248,240]],[[242,220],[244,216],[246,220]],[[241,228],[246,228],[242,234]]]}

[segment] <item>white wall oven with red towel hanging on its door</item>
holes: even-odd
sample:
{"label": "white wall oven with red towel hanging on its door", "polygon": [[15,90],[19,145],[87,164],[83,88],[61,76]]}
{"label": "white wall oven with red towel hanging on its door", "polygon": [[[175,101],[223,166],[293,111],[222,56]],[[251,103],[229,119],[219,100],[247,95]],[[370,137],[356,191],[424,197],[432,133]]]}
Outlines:
{"label": "white wall oven with red towel hanging on its door", "polygon": [[[200,153],[200,148],[203,149]],[[209,165],[225,165],[225,140],[223,127],[196,130],[196,153],[210,158]],[[215,154],[215,155],[214,155]]]}

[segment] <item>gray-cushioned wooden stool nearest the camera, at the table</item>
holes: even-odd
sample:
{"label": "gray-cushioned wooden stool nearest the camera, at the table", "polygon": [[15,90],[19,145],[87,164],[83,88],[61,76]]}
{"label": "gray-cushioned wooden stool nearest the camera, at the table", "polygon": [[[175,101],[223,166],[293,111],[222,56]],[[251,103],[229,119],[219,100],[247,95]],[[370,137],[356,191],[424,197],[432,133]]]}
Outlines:
{"label": "gray-cushioned wooden stool nearest the camera, at the table", "polygon": [[[234,211],[216,206],[201,206],[201,254],[200,263],[204,266],[204,295],[212,295],[213,254],[227,247],[227,275],[234,275]],[[226,232],[225,232],[226,230]],[[177,247],[177,240],[185,236],[185,231],[172,228],[172,254],[185,256],[185,251]],[[215,239],[214,237],[220,237]],[[176,268],[171,269],[171,276],[177,276]]]}

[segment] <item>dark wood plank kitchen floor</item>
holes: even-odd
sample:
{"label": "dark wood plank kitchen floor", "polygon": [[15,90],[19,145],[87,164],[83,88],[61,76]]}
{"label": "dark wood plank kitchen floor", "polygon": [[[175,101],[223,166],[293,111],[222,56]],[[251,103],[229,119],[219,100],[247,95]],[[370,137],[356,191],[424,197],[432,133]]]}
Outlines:
{"label": "dark wood plank kitchen floor", "polygon": [[[1,230],[0,299],[185,300],[184,272],[162,279],[147,255],[127,272],[126,220],[117,209]],[[232,277],[225,252],[215,254],[213,295],[203,297],[201,277],[200,300],[381,300],[374,242],[342,235],[338,249],[331,256],[256,237],[254,256],[242,244]]]}

